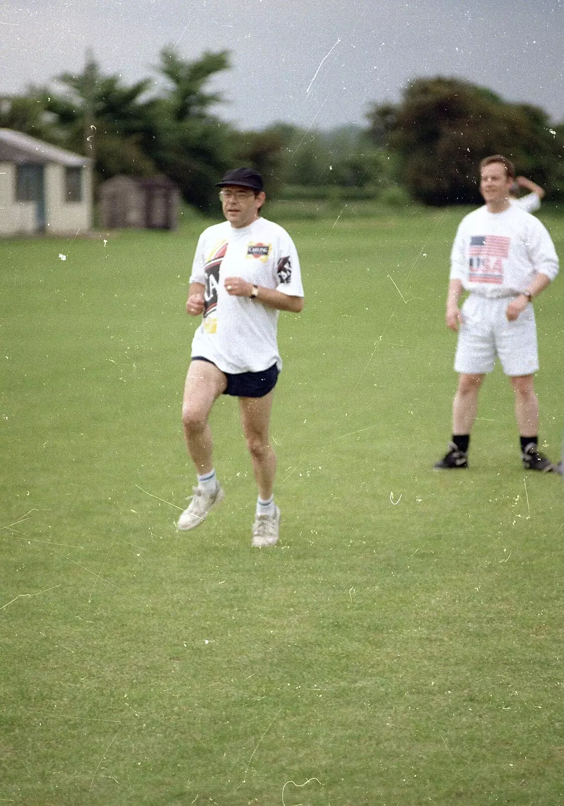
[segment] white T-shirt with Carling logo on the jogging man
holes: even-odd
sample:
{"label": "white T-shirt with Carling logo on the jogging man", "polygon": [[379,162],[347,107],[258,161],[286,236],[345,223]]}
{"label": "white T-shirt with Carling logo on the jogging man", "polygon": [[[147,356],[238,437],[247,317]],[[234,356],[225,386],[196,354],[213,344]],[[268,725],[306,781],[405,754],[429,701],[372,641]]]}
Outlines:
{"label": "white T-shirt with Carling logo on the jogging man", "polygon": [[226,277],[303,297],[296,247],[281,226],[257,218],[235,228],[226,221],[202,232],[190,283],[205,285],[204,314],[194,334],[192,355],[213,361],[222,372],[262,372],[282,361],[276,331],[279,311],[226,292]]}

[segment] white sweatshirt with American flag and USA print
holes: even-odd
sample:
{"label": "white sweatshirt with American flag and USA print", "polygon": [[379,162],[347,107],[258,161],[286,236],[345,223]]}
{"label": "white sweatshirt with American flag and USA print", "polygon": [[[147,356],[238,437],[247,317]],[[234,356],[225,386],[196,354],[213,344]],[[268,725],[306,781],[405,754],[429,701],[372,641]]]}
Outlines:
{"label": "white sweatshirt with American flag and USA print", "polygon": [[537,273],[554,280],[558,256],[545,226],[510,205],[503,213],[479,207],[460,222],[450,253],[450,280],[483,297],[525,291]]}

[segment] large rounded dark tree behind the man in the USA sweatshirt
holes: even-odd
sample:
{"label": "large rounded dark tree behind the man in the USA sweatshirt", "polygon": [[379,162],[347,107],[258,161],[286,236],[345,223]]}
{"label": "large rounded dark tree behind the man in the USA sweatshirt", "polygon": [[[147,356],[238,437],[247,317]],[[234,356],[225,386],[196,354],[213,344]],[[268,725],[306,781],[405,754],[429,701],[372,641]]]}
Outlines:
{"label": "large rounded dark tree behind the man in the USA sweatshirt", "polygon": [[417,79],[399,106],[374,107],[368,118],[373,137],[388,131],[401,180],[427,204],[478,203],[477,166],[490,154],[508,156],[517,172],[541,185],[549,186],[554,175],[556,152],[545,112],[504,102],[467,81]]}

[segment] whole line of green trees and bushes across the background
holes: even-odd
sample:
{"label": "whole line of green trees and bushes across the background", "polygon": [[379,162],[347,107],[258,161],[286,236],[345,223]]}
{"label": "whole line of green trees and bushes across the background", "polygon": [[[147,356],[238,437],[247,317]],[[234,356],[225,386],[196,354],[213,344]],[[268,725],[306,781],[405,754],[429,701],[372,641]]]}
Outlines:
{"label": "whole line of green trees and bushes across the background", "polygon": [[230,69],[229,53],[193,61],[163,48],[158,81],[126,85],[104,75],[92,53],[82,73],[63,73],[58,89],[31,87],[0,99],[0,127],[14,128],[93,159],[95,179],[164,174],[185,200],[207,209],[217,177],[236,164],[259,170],[273,196],[348,193],[378,197],[405,189],[431,205],[479,202],[476,166],[502,152],[517,172],[564,198],[564,124],[538,107],[505,102],[491,90],[452,78],[420,78],[398,104],[373,104],[367,126],[330,132],[275,123],[238,131],[214,113],[207,86]]}

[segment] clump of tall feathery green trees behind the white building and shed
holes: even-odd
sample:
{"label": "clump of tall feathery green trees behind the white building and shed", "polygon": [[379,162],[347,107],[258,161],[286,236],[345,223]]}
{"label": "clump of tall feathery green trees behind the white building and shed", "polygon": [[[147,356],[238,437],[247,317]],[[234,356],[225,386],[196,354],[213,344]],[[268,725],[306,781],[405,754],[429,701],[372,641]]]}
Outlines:
{"label": "clump of tall feathery green trees behind the white building and shed", "polygon": [[117,75],[103,75],[88,52],[83,71],[63,73],[56,88],[0,99],[0,123],[89,156],[98,179],[163,172],[186,201],[205,208],[233,151],[230,126],[209,112],[222,97],[205,92],[205,85],[228,67],[226,51],[190,62],[164,48],[164,85],[147,98],[154,81],[127,86]]}

